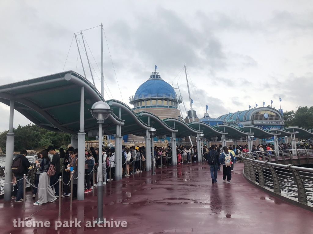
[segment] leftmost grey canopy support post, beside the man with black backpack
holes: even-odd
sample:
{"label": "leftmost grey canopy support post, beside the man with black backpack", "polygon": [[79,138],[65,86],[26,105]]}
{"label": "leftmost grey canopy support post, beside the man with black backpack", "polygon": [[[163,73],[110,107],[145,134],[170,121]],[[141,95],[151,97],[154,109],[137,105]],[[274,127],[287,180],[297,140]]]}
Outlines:
{"label": "leftmost grey canopy support post, beside the man with black backpack", "polygon": [[[14,151],[14,132],[13,132],[13,115],[14,115],[14,100],[10,100],[10,117],[9,117],[9,132],[7,134],[7,145],[5,153],[5,168],[11,168],[13,163]],[[4,201],[10,201],[12,196],[12,170],[5,170],[4,176]]]}

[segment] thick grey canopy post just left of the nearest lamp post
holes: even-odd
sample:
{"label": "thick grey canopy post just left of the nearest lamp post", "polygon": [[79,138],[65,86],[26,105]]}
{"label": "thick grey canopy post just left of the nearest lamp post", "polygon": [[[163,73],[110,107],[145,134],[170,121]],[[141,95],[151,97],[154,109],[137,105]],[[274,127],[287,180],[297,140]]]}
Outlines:
{"label": "thick grey canopy post just left of the nearest lamp post", "polygon": [[[78,132],[78,166],[77,173],[85,172],[85,131],[84,131],[85,87],[80,88],[80,131]],[[85,181],[77,180],[77,200],[85,198]]]}

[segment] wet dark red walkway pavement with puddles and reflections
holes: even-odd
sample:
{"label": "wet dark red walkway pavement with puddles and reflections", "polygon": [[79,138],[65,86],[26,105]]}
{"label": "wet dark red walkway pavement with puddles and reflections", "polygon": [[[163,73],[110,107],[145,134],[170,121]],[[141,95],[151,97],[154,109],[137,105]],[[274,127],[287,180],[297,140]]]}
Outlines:
{"label": "wet dark red walkway pavement with puddles and reflections", "polygon": [[[126,221],[127,227],[85,227],[95,219],[97,197],[86,194],[84,201],[62,198],[58,202],[33,206],[27,194],[23,203],[0,200],[0,233],[313,233],[313,213],[291,205],[255,188],[242,175],[243,163],[235,164],[232,183],[211,183],[208,165],[178,165],[136,174],[107,184],[104,190],[104,217]],[[51,227],[13,227],[13,219],[49,221]],[[59,227],[56,221],[81,221],[82,227]],[[121,225],[121,223],[120,223]]]}

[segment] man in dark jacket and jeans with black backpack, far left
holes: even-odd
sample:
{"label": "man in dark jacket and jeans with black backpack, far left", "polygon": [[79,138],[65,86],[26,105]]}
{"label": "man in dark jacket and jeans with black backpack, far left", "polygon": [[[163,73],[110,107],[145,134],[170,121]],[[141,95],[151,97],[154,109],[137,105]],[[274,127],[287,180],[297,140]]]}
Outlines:
{"label": "man in dark jacket and jeans with black backpack, far left", "polygon": [[16,194],[15,197],[15,202],[23,202],[24,200],[22,199],[24,195],[24,190],[23,190],[23,177],[24,174],[27,175],[28,173],[28,168],[30,167],[30,163],[28,159],[26,158],[27,151],[22,150],[20,154],[18,154],[12,163],[12,173],[14,174],[16,178],[16,184],[18,186],[18,193]]}

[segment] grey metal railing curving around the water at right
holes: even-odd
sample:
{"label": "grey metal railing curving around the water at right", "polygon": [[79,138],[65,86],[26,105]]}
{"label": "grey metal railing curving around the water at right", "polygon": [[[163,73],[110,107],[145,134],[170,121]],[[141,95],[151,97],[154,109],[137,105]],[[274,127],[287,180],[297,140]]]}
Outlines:
{"label": "grey metal railing curving around the water at right", "polygon": [[[242,153],[244,177],[253,185],[307,210],[313,211],[313,168],[285,162],[313,158],[313,150],[277,150]],[[289,158],[288,158],[289,157]],[[274,161],[277,161],[273,163]]]}

